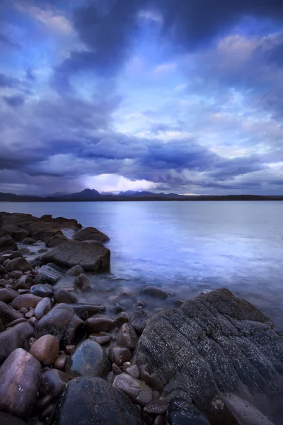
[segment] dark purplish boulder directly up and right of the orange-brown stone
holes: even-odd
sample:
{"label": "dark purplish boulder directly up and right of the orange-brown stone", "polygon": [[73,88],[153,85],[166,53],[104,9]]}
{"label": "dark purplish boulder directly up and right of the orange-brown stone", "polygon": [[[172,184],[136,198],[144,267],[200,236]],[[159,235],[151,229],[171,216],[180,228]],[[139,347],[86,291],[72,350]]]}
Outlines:
{"label": "dark purplish boulder directly up and right of the orange-brown stone", "polygon": [[86,336],[86,326],[67,304],[57,304],[37,324],[37,334],[51,334],[62,344],[77,344]]}

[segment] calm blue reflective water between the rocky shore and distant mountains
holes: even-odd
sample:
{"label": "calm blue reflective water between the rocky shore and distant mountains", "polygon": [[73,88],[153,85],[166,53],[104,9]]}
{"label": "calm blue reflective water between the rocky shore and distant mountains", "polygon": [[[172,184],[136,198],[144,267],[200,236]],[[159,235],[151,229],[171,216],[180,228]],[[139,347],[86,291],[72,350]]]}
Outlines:
{"label": "calm blue reflective water between the rocky shore and distant mountains", "polygon": [[154,284],[186,300],[225,286],[283,329],[283,202],[0,203],[0,210],[76,218],[108,234],[112,275],[96,285],[112,285],[113,294],[120,285],[139,294]]}

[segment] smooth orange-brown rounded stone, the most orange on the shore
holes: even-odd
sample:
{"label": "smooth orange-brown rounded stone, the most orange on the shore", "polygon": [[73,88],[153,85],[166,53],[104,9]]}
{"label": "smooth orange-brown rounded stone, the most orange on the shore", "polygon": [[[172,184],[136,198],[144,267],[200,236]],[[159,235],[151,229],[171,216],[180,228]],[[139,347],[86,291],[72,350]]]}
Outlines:
{"label": "smooth orange-brown rounded stone, the most orange on the shore", "polygon": [[44,366],[54,363],[59,352],[59,341],[53,335],[43,335],[30,348],[30,354]]}

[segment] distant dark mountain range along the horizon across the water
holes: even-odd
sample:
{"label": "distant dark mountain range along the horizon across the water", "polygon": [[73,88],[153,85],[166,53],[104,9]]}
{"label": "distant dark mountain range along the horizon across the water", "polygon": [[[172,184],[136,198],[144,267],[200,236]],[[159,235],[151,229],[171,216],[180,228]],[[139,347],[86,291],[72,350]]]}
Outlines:
{"label": "distant dark mountain range along the horizon across the water", "polygon": [[177,193],[153,193],[149,191],[125,191],[118,194],[102,192],[95,189],[84,189],[76,193],[56,192],[49,196],[16,195],[1,193],[0,202],[64,202],[64,201],[131,201],[131,200],[283,200],[283,196],[258,195],[178,195]]}

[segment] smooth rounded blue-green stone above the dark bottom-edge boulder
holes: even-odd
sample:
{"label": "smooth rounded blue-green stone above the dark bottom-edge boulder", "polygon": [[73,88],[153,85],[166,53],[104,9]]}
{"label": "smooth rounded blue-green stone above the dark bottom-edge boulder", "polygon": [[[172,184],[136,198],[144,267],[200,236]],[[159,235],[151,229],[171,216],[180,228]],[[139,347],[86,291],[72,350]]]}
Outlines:
{"label": "smooth rounded blue-green stone above the dark bottom-edge boulder", "polygon": [[111,363],[108,354],[95,341],[86,339],[81,342],[74,353],[68,358],[66,372],[72,377],[77,376],[101,376],[110,372]]}

